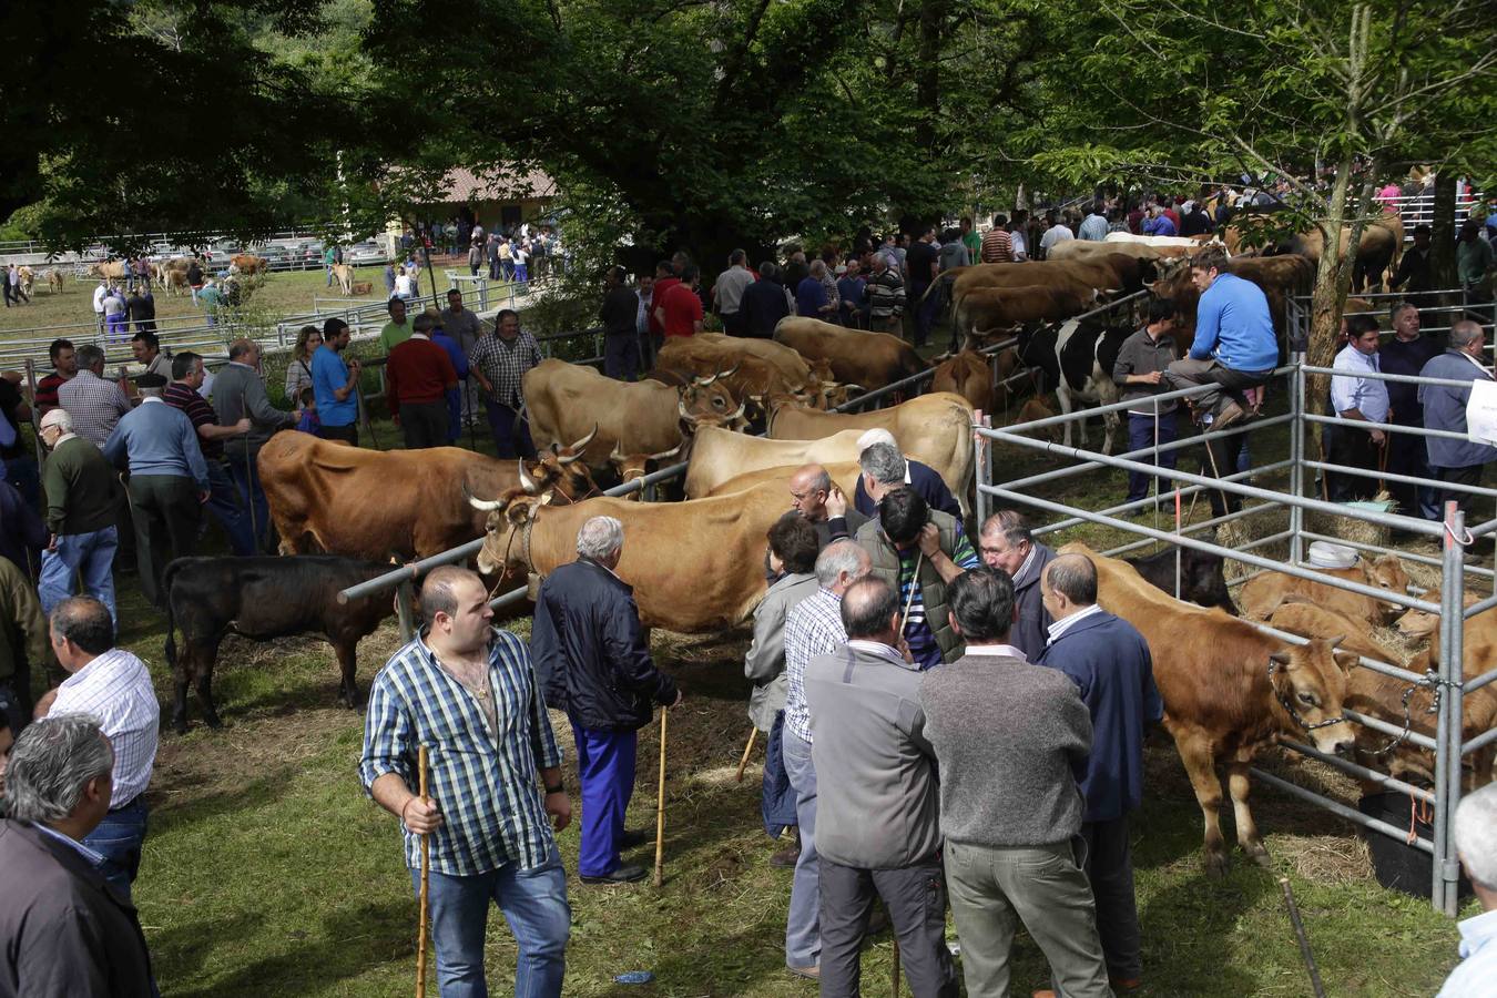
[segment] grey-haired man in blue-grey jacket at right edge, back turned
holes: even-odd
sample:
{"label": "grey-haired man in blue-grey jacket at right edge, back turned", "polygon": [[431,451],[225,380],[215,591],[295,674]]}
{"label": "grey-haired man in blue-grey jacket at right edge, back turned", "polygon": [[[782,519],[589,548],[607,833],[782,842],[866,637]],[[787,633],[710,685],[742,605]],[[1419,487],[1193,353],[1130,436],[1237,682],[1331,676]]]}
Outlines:
{"label": "grey-haired man in blue-grey jacket at right edge, back turned", "polygon": [[[1452,382],[1491,382],[1491,373],[1482,367],[1482,347],[1485,338],[1482,328],[1469,319],[1451,326],[1445,353],[1431,358],[1419,377],[1443,377]],[[1419,402],[1424,405],[1425,429],[1448,429],[1464,434],[1466,402],[1472,397],[1469,388],[1451,388],[1445,385],[1421,385]],[[1430,471],[1440,482],[1448,485],[1481,485],[1482,468],[1497,459],[1497,447],[1469,440],[1452,440],[1449,437],[1425,437],[1430,449]],[[1473,521],[1470,492],[1455,489],[1440,489],[1440,510],[1443,516],[1445,504],[1455,500],[1461,512],[1466,513],[1467,525]],[[1479,519],[1479,518],[1475,518]]]}

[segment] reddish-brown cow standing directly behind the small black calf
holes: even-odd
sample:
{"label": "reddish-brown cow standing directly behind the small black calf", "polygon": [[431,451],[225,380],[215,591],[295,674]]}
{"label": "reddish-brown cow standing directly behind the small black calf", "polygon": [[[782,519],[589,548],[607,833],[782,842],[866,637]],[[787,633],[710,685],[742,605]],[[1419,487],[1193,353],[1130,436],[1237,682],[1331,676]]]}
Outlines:
{"label": "reddish-brown cow standing directly behind the small black calf", "polygon": [[280,432],[260,449],[259,470],[281,554],[425,558],[484,534],[484,518],[469,512],[464,489],[554,491],[558,501],[596,494],[576,459],[587,443],[545,452],[524,468],[461,447],[380,452]]}

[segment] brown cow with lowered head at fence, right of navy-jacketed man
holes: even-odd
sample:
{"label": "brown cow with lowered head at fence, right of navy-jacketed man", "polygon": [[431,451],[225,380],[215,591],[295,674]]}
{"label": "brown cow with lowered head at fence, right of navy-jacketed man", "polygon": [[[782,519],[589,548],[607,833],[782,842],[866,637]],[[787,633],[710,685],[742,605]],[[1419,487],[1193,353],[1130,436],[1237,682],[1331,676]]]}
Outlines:
{"label": "brown cow with lowered head at fence, right of navy-jacketed man", "polygon": [[1136,627],[1154,657],[1154,682],[1165,700],[1165,729],[1205,824],[1208,872],[1226,868],[1219,818],[1222,781],[1237,815],[1237,836],[1257,863],[1268,863],[1248,809],[1248,768],[1257,751],[1280,736],[1308,738],[1323,753],[1347,754],[1355,732],[1341,717],[1347,675],[1325,639],[1287,645],[1216,607],[1181,603],[1150,585],[1132,566],[1072,543],[1063,554],[1081,554],[1097,567],[1097,601]]}

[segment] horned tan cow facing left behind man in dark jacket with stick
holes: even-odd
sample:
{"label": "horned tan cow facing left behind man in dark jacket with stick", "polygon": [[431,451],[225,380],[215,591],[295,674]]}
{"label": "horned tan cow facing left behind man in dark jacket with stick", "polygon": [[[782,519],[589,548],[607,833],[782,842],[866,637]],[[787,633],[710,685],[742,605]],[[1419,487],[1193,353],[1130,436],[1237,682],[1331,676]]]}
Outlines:
{"label": "horned tan cow facing left behind man in dark jacket with stick", "polygon": [[576,558],[576,531],[591,516],[624,525],[615,569],[635,588],[639,619],[684,634],[741,624],[763,596],[763,536],[789,509],[780,483],[686,503],[591,498],[545,506],[537,497],[472,500],[488,515],[481,572],[546,575]]}

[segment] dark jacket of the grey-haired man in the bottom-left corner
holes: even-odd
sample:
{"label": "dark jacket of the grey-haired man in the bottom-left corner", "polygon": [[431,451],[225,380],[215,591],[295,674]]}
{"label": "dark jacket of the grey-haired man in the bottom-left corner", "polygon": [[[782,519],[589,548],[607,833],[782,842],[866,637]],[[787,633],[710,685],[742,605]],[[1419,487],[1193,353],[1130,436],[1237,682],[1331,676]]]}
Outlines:
{"label": "dark jacket of the grey-haired man in the bottom-left corner", "polygon": [[0,998],[148,998],[135,907],[72,847],[0,821]]}

